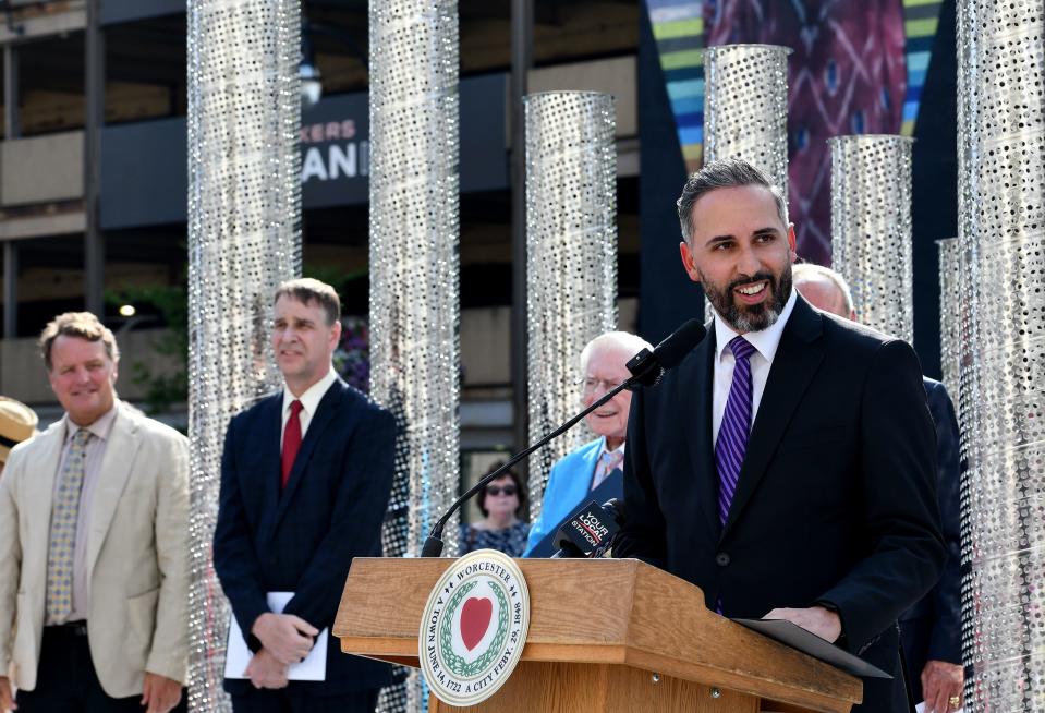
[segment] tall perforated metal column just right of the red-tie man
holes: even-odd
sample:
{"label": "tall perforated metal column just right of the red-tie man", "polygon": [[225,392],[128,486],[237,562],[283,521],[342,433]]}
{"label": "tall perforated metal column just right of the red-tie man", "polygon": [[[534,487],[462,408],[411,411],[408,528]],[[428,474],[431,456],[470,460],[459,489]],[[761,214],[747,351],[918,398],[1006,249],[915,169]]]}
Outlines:
{"label": "tall perforated metal column just right of the red-tie man", "polygon": [[[396,557],[420,554],[460,481],[457,2],[372,0],[369,46],[370,394],[400,424],[384,533]],[[457,534],[451,521],[449,555]],[[421,704],[414,682],[380,709]]]}

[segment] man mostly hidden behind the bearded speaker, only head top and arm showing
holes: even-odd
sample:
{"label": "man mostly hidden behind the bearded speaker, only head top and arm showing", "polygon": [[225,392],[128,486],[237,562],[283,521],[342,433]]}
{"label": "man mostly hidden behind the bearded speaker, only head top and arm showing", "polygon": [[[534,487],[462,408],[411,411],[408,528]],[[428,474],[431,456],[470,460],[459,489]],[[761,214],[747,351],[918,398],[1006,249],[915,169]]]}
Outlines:
{"label": "man mostly hidden behind the bearded speaker, only head top and arm showing", "polygon": [[[856,321],[849,285],[835,270],[821,265],[795,265],[794,289],[824,312]],[[939,516],[947,542],[947,563],[933,591],[900,615],[903,668],[915,701],[925,701],[927,713],[948,713],[961,705],[964,675],[961,667],[961,539],[959,523],[958,419],[947,389],[922,377],[933,422],[936,424],[936,481]]]}

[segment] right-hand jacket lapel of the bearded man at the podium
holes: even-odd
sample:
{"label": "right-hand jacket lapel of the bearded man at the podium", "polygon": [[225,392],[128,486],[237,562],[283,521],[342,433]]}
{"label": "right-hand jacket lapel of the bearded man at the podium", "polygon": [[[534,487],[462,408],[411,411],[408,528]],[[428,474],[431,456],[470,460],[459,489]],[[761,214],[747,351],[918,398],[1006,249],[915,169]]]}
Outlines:
{"label": "right-hand jacket lapel of the bearded man at the podium", "polygon": [[758,486],[802,395],[819,368],[824,352],[815,342],[821,335],[822,319],[801,297],[798,298],[791,317],[783,327],[780,346],[777,347],[766,388],[762,392],[762,402],[748,439],[748,452],[740,468],[737,492],[729,506],[722,536],[737,522]]}

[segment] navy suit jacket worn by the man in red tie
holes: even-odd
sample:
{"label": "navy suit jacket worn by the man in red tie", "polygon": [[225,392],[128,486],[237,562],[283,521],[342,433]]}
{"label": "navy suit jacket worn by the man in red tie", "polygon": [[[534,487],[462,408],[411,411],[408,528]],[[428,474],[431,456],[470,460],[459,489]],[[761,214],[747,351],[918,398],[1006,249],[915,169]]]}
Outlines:
{"label": "navy suit jacket worn by the man in red tie", "polygon": [[[392,481],[390,413],[338,379],[324,395],[280,493],[282,391],[229,424],[214,566],[247,632],[268,612],[266,592],[294,592],[284,612],[318,629],[333,626],[353,557],[381,554],[381,521]],[[325,681],[291,681],[316,694],[377,688],[387,665],[341,653],[331,635]],[[226,679],[231,693],[251,681]]]}

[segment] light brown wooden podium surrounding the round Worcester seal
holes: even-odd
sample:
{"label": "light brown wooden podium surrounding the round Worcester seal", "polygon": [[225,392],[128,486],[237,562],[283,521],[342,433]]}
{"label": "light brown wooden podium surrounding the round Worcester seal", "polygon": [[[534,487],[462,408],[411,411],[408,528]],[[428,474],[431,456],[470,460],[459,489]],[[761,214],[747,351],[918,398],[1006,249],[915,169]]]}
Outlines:
{"label": "light brown wooden podium surrounding the round Worcester seal", "polygon": [[[421,614],[452,559],[356,558],[335,621],[341,650],[417,667]],[[479,705],[429,711],[849,711],[854,678],[708,612],[704,594],[635,559],[518,559],[530,632]]]}

